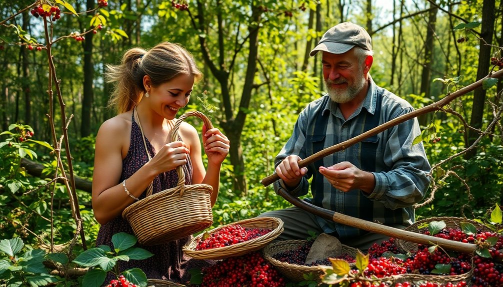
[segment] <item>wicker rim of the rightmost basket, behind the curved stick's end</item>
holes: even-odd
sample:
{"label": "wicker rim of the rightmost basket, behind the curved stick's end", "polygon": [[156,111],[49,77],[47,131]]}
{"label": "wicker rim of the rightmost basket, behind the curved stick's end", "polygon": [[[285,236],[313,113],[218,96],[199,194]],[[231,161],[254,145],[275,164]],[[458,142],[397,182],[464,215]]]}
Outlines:
{"label": "wicker rim of the rightmost basket, behind the curved stick's end", "polygon": [[[428,224],[432,221],[444,221],[445,222],[445,225],[446,225],[446,228],[447,227],[450,227],[450,228],[460,228],[461,229],[461,223],[471,223],[475,226],[475,228],[477,229],[481,229],[483,231],[489,231],[490,229],[475,221],[475,220],[471,220],[471,219],[466,219],[466,218],[461,218],[461,217],[432,217],[432,218],[426,218],[426,219],[423,219],[423,220],[419,220],[419,221],[416,221],[414,224],[410,225],[410,226],[407,226],[405,228],[405,230],[407,231],[412,231],[412,232],[416,232],[416,233],[421,233],[422,230],[428,230]],[[425,225],[426,227],[422,227],[420,228],[420,226],[422,225]],[[413,242],[410,242],[410,241],[405,241],[403,239],[396,239],[396,246],[398,246],[398,248],[400,248],[402,251],[404,251],[405,253],[407,252],[413,252],[413,251],[417,251],[417,243],[413,243]]]}

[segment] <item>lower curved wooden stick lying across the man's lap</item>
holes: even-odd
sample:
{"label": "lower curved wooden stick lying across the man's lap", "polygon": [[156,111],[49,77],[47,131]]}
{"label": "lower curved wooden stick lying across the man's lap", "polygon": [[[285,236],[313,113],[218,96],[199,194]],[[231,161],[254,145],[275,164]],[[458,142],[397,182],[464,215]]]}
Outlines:
{"label": "lower curved wooden stick lying across the man's lap", "polygon": [[462,243],[454,240],[449,240],[445,238],[439,238],[435,236],[430,236],[421,233],[415,233],[411,231],[406,231],[371,221],[366,221],[360,218],[352,217],[342,213],[334,212],[328,209],[317,207],[308,202],[300,200],[298,197],[289,194],[284,189],[280,188],[278,194],[284,197],[291,204],[308,211],[314,215],[322,217],[326,220],[331,220],[337,223],[353,226],[359,229],[367,230],[370,232],[376,232],[379,234],[384,234],[390,237],[403,239],[406,241],[424,244],[427,246],[438,245],[447,250],[454,250],[458,252],[473,253],[477,248],[476,244],[472,243]]}

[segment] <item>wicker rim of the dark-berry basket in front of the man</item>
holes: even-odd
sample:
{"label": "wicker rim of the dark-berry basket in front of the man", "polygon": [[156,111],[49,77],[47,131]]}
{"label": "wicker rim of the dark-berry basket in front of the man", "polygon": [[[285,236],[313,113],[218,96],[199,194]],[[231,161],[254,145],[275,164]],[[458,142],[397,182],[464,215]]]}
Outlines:
{"label": "wicker rim of the dark-berry basket in front of the man", "polygon": [[[323,275],[323,270],[321,270],[318,266],[306,266],[306,265],[298,265],[291,264],[287,262],[280,261],[273,256],[285,252],[292,249],[297,249],[297,247],[305,244],[307,240],[284,240],[275,243],[271,243],[267,245],[262,253],[264,255],[264,259],[266,259],[269,263],[271,263],[283,276],[291,280],[292,282],[300,282],[305,280],[304,274],[313,273],[318,274],[319,276]],[[352,255],[356,257],[358,253],[357,248],[353,248],[347,245],[342,245],[343,253]],[[351,266],[355,265],[355,263],[350,263]],[[321,281],[321,278],[317,277],[318,281]]]}

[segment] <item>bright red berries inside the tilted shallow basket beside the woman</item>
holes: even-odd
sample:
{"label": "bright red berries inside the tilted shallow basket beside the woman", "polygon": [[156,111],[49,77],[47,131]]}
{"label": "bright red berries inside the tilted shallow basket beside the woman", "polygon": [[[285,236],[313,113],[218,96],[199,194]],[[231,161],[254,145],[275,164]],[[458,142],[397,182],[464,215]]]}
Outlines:
{"label": "bright red berries inside the tilted shallow basket beside the woman", "polygon": [[211,233],[196,246],[196,250],[210,249],[229,246],[260,237],[271,232],[269,228],[244,228],[239,224],[225,226],[220,230]]}

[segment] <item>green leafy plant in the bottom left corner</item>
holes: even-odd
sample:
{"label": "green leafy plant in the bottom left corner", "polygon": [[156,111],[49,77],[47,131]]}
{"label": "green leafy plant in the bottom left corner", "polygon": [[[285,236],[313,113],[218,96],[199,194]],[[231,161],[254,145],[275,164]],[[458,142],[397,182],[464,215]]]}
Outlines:
{"label": "green leafy plant in the bottom left corner", "polygon": [[[21,253],[22,250],[24,253]],[[55,283],[60,278],[50,275],[43,261],[49,257],[44,250],[27,249],[21,238],[0,240],[0,285],[6,287],[17,286],[46,286]],[[64,261],[64,254],[50,256],[52,260],[59,258]]]}

